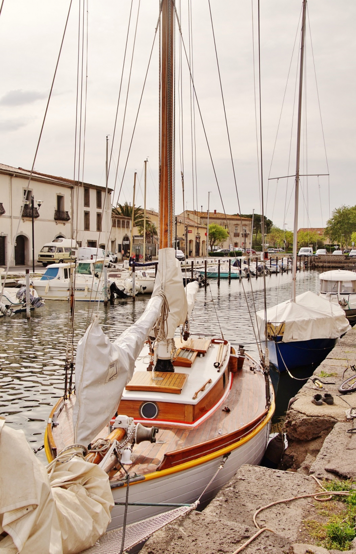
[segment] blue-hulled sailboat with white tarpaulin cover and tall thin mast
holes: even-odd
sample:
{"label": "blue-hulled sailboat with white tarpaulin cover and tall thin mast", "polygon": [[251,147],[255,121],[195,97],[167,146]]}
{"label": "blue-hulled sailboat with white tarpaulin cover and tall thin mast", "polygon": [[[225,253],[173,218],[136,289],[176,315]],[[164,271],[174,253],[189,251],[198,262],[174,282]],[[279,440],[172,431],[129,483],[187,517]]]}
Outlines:
{"label": "blue-hulled sailboat with white tarpaulin cover and tall thin mast", "polygon": [[[350,329],[342,307],[311,291],[296,295],[298,192],[302,119],[303,63],[307,0],[303,0],[298,97],[291,299],[256,313],[256,332],[266,342],[270,362],[279,371],[319,365],[338,338]],[[267,336],[266,336],[267,335]]]}

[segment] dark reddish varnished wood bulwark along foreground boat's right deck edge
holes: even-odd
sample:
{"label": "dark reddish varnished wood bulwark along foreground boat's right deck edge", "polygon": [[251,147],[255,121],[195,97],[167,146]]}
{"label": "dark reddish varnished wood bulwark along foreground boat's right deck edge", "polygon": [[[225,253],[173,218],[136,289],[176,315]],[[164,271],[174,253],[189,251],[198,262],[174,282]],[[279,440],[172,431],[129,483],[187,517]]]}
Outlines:
{"label": "dark reddish varnished wood bulwark along foreground boat's right deck edge", "polygon": [[163,461],[157,467],[157,471],[169,469],[176,465],[184,464],[190,460],[216,452],[216,450],[220,450],[221,448],[229,447],[231,444],[234,444],[236,440],[250,433],[254,427],[257,427],[262,419],[267,416],[267,413],[268,410],[265,409],[259,416],[252,419],[250,423],[240,427],[240,429],[236,429],[236,431],[232,433],[221,435],[220,437],[207,440],[204,443],[195,444],[192,447],[181,448],[179,450],[174,450],[174,452],[167,452],[164,454]]}

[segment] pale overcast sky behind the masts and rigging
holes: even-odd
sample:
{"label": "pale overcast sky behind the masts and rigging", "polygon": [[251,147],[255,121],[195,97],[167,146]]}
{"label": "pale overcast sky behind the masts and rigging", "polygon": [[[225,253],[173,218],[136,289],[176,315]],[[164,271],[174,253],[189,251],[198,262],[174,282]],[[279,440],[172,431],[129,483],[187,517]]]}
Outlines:
{"label": "pale overcast sky behind the masts and rigging", "polygon": [[[4,0],[0,16],[1,163],[23,168],[32,166],[69,4],[69,0]],[[122,73],[131,1],[85,0],[84,78],[82,88],[79,84],[76,119],[78,42],[82,43],[79,6],[82,9],[83,0],[80,4],[79,0],[72,0],[35,170],[78,178],[79,165],[80,179],[104,186],[106,136],[109,135],[109,154],[112,148],[109,186],[115,188],[115,204],[117,201],[132,202],[136,171],[138,187],[135,204],[143,205],[143,161],[148,159],[147,207],[158,208],[158,34],[138,111],[158,19],[158,4],[157,0],[132,1]],[[206,211],[210,191],[210,210],[252,213],[255,209],[260,213],[257,2],[210,0],[239,201],[226,132],[209,3],[208,0],[194,0],[190,6],[187,0],[181,0],[176,4],[188,52],[188,23],[192,30],[190,56],[193,58],[197,95],[193,105],[184,52],[180,67],[176,27],[176,213],[183,210],[181,171],[184,173],[184,207],[190,210],[203,207]],[[302,2],[263,0],[260,4],[265,213],[278,227],[285,224],[287,229],[291,229],[293,178],[269,178],[295,174],[297,56]],[[192,12],[190,21],[189,6]],[[301,174],[316,176],[301,178],[298,227],[323,227],[334,208],[356,203],[355,16],[356,3],[350,0],[308,2]],[[81,74],[81,50],[79,58]],[[121,75],[121,98],[113,140]],[[181,101],[178,101],[178,95]]]}

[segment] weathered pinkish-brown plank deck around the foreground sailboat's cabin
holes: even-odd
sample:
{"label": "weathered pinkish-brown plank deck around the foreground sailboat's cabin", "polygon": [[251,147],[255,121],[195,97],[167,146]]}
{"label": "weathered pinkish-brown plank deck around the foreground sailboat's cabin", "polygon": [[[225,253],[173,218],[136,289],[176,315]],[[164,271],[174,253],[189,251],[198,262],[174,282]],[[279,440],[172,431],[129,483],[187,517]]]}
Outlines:
{"label": "weathered pinkish-brown plank deck around the foreground sailboat's cabin", "polygon": [[[198,427],[177,427],[174,423],[160,423],[156,443],[136,444],[130,473],[145,475],[192,459],[192,456],[197,458],[214,452],[216,448],[233,444],[256,427],[266,414],[264,376],[261,372],[251,371],[247,361],[242,370],[231,375],[233,382],[226,401]],[[52,431],[58,452],[73,443],[74,402],[74,396],[66,401],[58,417],[59,425]],[[224,406],[230,412],[224,411]],[[154,420],[147,421],[147,427],[152,424]],[[105,428],[100,436],[105,437],[107,434],[108,430]],[[110,480],[120,480],[124,475],[123,470],[112,470]]]}

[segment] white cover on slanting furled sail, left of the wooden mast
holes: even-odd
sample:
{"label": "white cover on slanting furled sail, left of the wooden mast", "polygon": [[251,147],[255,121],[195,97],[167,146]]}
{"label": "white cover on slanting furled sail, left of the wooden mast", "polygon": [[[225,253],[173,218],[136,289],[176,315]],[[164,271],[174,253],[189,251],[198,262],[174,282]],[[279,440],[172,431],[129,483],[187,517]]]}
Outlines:
{"label": "white cover on slanting furled sail, left of the wooden mast", "polygon": [[152,297],[140,319],[113,343],[102,331],[99,317],[78,342],[73,410],[75,443],[89,445],[114,416],[123,389],[132,378],[136,358],[159,318],[162,302],[162,296]]}

